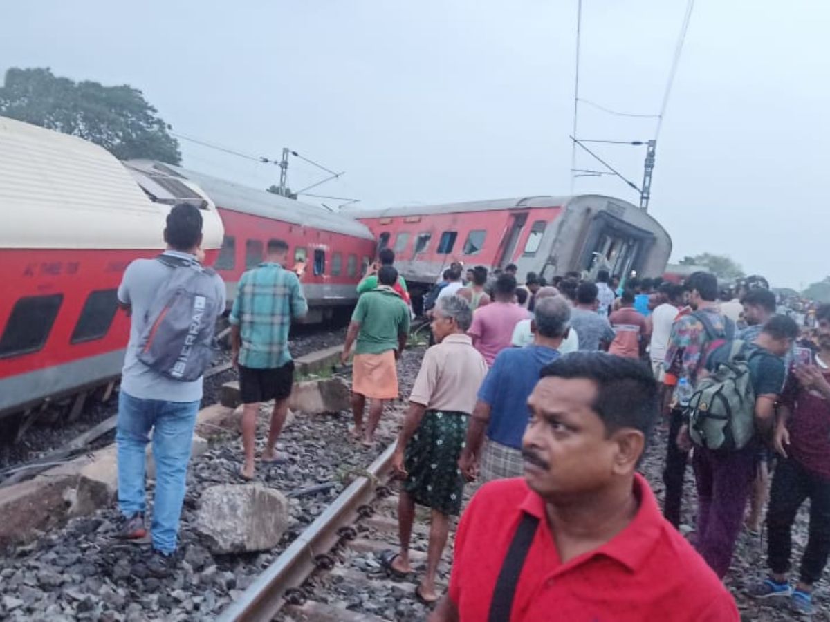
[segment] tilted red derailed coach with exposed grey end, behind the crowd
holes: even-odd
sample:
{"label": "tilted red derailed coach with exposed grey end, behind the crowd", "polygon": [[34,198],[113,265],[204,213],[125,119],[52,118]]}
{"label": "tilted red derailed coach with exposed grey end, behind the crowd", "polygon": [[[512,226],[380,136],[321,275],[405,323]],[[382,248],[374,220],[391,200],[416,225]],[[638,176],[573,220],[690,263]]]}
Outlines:
{"label": "tilted red derailed coach with exposed grey end, behind the crowd", "polygon": [[659,276],[671,238],[647,211],[600,195],[520,197],[445,205],[350,211],[378,248],[390,246],[404,278],[432,284],[453,261],[550,280],[569,270]]}

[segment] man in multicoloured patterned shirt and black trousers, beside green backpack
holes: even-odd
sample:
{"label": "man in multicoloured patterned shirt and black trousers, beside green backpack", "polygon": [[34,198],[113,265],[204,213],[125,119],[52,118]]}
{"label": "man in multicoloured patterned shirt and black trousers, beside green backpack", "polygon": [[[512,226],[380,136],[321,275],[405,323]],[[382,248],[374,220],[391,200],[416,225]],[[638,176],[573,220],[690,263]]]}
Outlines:
{"label": "man in multicoloured patterned shirt and black trousers, beside green backpack", "polygon": [[681,309],[671,326],[662,397],[663,414],[669,417],[666,466],[663,469],[663,483],[666,484],[663,513],[675,527],[680,527],[681,522],[683,479],[690,449],[676,442],[686,422],[686,405],[683,403],[686,397],[677,394],[691,393],[706,362],[706,354],[720,343],[735,338],[735,323],[720,313],[715,275],[695,272],[686,279],[684,286],[689,292],[689,306]]}

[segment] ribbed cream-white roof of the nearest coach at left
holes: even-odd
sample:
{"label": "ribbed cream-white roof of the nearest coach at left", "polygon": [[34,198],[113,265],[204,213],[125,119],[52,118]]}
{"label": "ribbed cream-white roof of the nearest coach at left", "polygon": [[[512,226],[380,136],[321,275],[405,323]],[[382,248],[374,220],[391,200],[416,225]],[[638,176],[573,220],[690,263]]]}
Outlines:
{"label": "ribbed cream-white roof of the nearest coach at left", "polygon": [[163,248],[168,210],[105,148],[0,117],[0,247]]}

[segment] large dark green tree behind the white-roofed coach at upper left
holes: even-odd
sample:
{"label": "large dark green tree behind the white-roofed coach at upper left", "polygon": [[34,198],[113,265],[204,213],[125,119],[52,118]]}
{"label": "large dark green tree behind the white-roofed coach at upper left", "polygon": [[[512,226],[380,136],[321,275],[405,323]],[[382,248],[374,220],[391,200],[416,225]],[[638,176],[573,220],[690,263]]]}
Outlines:
{"label": "large dark green tree behind the white-roofed coach at upper left", "polygon": [[116,158],[182,161],[178,141],[140,90],[73,82],[46,69],[12,69],[0,87],[0,115],[85,138]]}

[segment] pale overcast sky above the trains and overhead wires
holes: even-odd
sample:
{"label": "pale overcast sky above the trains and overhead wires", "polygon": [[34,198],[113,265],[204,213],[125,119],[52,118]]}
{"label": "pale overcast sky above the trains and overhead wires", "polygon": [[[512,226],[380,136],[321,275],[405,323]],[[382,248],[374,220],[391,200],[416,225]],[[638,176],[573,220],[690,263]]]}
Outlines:
{"label": "pale overcast sky above the trains and overhead wires", "polygon": [[[582,97],[657,113],[686,0],[583,5]],[[576,0],[27,0],[2,9],[0,72],[132,85],[182,134],[346,171],[311,192],[366,207],[556,195],[571,188],[575,22]],[[696,2],[652,185],[673,259],[724,253],[794,287],[830,274],[828,32],[828,2]],[[582,138],[654,129],[580,109]],[[182,148],[189,168],[278,182],[271,165]],[[640,185],[643,148],[598,152]],[[298,160],[289,173],[295,190],[320,179]],[[575,191],[638,201],[613,177]]]}

